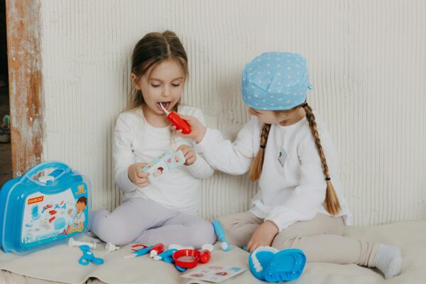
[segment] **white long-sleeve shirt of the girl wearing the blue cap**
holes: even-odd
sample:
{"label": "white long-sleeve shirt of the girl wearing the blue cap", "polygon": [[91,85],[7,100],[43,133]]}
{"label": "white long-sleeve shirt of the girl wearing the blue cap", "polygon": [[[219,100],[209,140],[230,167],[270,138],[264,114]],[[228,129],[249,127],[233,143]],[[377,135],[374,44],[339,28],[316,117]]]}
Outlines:
{"label": "white long-sleeve shirt of the girl wearing the blue cap", "polygon": [[[352,217],[341,193],[337,153],[318,114],[315,114],[315,121],[330,178],[342,207],[337,216],[344,216],[346,225],[350,225]],[[219,131],[207,129],[196,146],[197,151],[204,153],[213,168],[241,175],[249,170],[258,153],[262,127],[253,116],[234,143],[224,140]],[[330,216],[323,205],[326,188],[320,155],[307,119],[290,126],[271,125],[258,192],[250,211],[257,217],[271,220],[282,231],[297,221],[313,219],[318,212]]]}

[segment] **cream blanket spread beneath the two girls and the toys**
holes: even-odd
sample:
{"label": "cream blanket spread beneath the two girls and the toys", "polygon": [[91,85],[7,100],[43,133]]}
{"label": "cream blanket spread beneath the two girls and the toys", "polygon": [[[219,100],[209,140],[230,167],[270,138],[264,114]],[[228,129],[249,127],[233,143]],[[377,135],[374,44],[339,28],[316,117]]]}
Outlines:
{"label": "cream blanket spread beneath the two girls and the toys", "polygon": [[[403,273],[385,280],[376,269],[332,263],[307,263],[305,271],[293,283],[426,283],[426,222],[400,222],[382,226],[349,227],[346,236],[385,244],[398,245],[403,252]],[[87,236],[85,236],[87,240]],[[107,253],[102,246],[94,255],[104,258],[97,266],[81,266],[78,259],[82,252],[65,244],[28,256],[0,253],[0,283],[189,283],[180,277],[174,266],[163,261],[153,261],[148,256],[125,259],[130,247]],[[344,251],[342,251],[344,253]],[[263,283],[251,275],[246,251],[232,247],[222,251],[218,245],[212,253],[214,263],[222,266],[239,266],[247,271],[226,280],[225,283]],[[202,268],[197,266],[195,269]],[[37,278],[37,279],[35,279]],[[53,281],[53,282],[52,282]]]}

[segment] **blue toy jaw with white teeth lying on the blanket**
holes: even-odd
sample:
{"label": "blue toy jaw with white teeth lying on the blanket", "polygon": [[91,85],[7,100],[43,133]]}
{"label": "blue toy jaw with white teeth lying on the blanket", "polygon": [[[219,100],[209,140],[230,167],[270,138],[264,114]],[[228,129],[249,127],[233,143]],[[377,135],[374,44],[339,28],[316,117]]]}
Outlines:
{"label": "blue toy jaw with white teeth lying on the blanket", "polygon": [[249,255],[250,271],[267,282],[295,280],[305,268],[306,256],[300,249],[278,251],[271,246],[260,246]]}

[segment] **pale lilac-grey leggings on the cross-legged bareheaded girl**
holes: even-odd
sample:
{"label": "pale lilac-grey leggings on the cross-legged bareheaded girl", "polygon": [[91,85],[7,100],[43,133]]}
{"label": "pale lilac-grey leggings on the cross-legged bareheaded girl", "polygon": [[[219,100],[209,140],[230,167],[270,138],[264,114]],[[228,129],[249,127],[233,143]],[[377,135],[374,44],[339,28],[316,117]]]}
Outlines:
{"label": "pale lilac-grey leggings on the cross-legged bareheaded girl", "polygon": [[126,200],[113,212],[93,212],[90,231],[116,245],[163,243],[200,249],[216,239],[210,222],[143,198]]}

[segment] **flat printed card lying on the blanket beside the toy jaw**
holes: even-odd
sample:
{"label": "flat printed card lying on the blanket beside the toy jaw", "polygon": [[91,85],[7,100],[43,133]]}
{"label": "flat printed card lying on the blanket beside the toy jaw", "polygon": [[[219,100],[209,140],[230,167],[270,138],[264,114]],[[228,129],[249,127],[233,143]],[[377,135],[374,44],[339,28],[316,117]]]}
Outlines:
{"label": "flat printed card lying on the blanket beside the toy jaw", "polygon": [[184,274],[182,275],[182,277],[195,280],[209,281],[213,283],[220,283],[244,271],[246,271],[246,268],[234,266],[207,266],[206,268],[198,269],[196,271],[191,271],[190,273]]}

